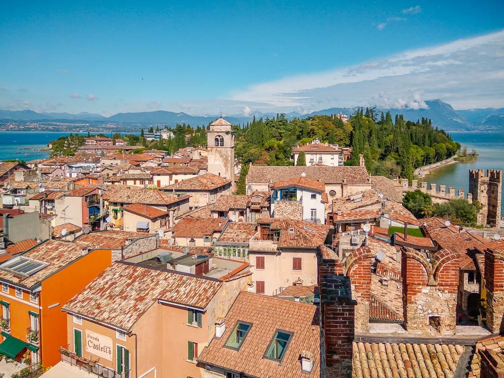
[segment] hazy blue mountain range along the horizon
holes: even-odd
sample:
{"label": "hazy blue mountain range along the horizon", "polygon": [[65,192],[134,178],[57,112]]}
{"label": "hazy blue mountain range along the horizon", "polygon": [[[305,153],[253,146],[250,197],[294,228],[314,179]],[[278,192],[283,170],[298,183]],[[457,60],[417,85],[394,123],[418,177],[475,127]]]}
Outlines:
{"label": "hazy blue mountain range along the horizon", "polygon": [[[475,130],[498,130],[504,127],[504,108],[485,108],[485,109],[467,109],[455,110],[450,104],[441,100],[425,101],[427,105],[423,109],[385,109],[377,108],[378,112],[390,111],[394,119],[396,114],[403,114],[405,119],[416,121],[421,117],[432,119],[432,124],[439,129],[444,129],[448,132],[457,131],[475,131]],[[352,114],[359,107],[351,108],[329,108],[318,110],[308,114],[300,114],[290,112],[285,114],[288,119],[306,118],[313,115],[329,115],[329,114]],[[275,117],[276,113],[250,113],[247,117],[243,115],[230,115],[225,118],[233,124],[242,124],[251,121],[252,117],[256,119],[261,117]],[[100,114],[81,112],[78,114],[71,113],[38,113],[33,110],[2,110],[0,109],[0,120],[54,120],[54,121],[92,121],[98,123],[134,123],[134,124],[166,124],[175,126],[176,123],[186,123],[195,125],[207,125],[218,118],[215,116],[197,116],[190,115],[184,112],[172,112],[165,110],[137,112],[137,113],[117,113],[109,117]]]}

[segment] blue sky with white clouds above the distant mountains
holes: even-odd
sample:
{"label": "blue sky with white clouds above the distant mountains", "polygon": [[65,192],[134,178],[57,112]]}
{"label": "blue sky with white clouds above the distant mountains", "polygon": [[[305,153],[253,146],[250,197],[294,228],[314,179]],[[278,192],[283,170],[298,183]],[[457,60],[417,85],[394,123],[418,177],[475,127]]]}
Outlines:
{"label": "blue sky with white clouds above the distant mountains", "polygon": [[378,3],[6,2],[0,109],[504,107],[503,2]]}

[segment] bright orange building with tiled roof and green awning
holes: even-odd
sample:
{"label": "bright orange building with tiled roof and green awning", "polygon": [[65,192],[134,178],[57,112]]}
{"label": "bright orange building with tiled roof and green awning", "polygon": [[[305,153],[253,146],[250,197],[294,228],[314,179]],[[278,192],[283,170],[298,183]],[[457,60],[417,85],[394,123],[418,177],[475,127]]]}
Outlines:
{"label": "bright orange building with tiled roof and green awning", "polygon": [[29,350],[32,363],[57,363],[67,343],[61,306],[110,264],[110,250],[46,240],[0,265],[0,353],[21,360]]}

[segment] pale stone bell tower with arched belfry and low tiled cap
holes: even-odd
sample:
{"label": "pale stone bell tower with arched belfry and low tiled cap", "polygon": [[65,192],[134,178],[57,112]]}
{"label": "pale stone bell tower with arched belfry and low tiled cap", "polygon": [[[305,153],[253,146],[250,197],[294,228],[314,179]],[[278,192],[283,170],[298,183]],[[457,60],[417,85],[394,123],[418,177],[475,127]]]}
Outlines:
{"label": "pale stone bell tower with arched belfry and low tiled cap", "polygon": [[234,186],[234,131],[231,123],[220,117],[207,130],[208,173],[225,177]]}

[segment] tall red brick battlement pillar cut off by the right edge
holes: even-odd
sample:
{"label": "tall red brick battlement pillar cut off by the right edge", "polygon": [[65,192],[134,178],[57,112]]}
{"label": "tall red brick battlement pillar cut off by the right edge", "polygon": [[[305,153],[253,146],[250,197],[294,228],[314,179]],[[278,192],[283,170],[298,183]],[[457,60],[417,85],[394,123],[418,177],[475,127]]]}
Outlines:
{"label": "tall red brick battlement pillar cut off by the right edge", "polygon": [[491,332],[504,331],[504,253],[485,250],[486,323]]}

